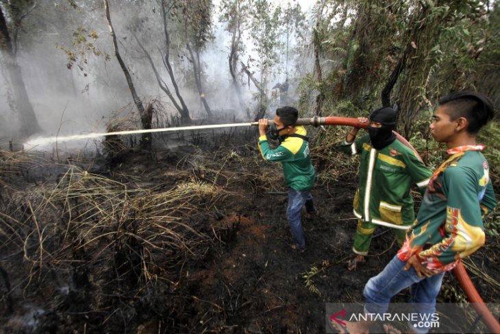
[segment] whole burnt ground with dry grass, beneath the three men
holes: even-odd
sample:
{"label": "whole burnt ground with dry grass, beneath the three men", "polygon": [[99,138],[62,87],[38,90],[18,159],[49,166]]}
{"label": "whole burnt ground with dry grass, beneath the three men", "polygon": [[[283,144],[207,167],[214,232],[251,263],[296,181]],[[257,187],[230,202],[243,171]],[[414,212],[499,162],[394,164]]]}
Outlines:
{"label": "whole burnt ground with dry grass, beneath the three men", "polygon": [[[156,141],[113,161],[2,152],[2,329],[321,333],[325,303],[362,302],[397,247],[377,228],[362,271],[346,268],[357,166],[334,150],[329,169],[325,150],[314,152],[320,216],[303,217],[308,249],[294,252],[282,171],[264,163],[254,130],[175,149]],[[498,244],[486,243],[466,265],[485,273],[473,282],[495,300]],[[438,301],[462,300],[448,274]]]}

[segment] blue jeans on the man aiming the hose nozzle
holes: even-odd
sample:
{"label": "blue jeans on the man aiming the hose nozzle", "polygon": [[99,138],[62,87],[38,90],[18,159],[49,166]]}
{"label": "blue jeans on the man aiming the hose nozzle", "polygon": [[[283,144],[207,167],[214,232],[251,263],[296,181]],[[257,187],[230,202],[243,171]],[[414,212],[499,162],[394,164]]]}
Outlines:
{"label": "blue jeans on the man aiming the hose nozzle", "polygon": [[316,213],[312,195],[308,190],[295,190],[288,188],[288,208],[286,208],[286,218],[288,226],[292,232],[293,242],[297,250],[305,248],[304,231],[301,223],[301,211],[305,205],[305,211],[308,213]]}

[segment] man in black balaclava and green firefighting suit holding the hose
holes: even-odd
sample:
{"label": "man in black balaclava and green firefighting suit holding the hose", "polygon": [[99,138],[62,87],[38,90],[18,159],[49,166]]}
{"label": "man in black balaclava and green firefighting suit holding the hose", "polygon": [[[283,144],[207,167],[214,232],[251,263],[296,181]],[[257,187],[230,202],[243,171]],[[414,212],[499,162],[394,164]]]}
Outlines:
{"label": "man in black balaclava and green firefighting suit holding the hose", "polygon": [[431,171],[410,147],[399,141],[392,132],[396,112],[390,107],[373,111],[368,123],[368,134],[354,141],[358,128],[353,128],[340,146],[347,154],[360,154],[358,189],[354,196],[354,215],[358,217],[358,229],[354,239],[356,254],[348,263],[355,270],[364,263],[368,254],[375,225],[395,230],[399,246],[405,240],[406,230],[415,219],[412,184],[421,193],[429,182]]}

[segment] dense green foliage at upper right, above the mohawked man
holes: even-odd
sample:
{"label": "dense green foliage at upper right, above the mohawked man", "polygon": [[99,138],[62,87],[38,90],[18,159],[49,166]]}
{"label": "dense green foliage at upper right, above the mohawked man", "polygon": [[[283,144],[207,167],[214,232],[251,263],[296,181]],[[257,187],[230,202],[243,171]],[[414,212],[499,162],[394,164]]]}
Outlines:
{"label": "dense green foliage at upper right, above the mohawked man", "polygon": [[499,7],[469,0],[318,1],[311,39],[323,58],[323,82],[312,83],[326,102],[345,99],[364,110],[379,106],[388,87],[390,103],[401,110],[399,132],[425,135],[421,110],[449,91],[479,90],[500,101],[500,72],[492,71],[500,66]]}

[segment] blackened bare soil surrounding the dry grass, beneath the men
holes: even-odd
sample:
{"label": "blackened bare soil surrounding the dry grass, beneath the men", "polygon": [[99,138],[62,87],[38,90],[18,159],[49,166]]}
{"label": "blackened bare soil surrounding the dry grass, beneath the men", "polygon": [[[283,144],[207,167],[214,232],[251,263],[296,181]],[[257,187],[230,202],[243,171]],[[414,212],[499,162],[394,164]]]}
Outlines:
{"label": "blackened bare soil surrounding the dry grass, beneath the men", "polygon": [[[22,244],[7,242],[8,220],[3,217],[0,333],[325,333],[326,303],[362,303],[366,281],[394,257],[397,244],[392,231],[377,228],[366,264],[355,272],[347,270],[356,228],[355,167],[312,189],[320,214],[307,219],[304,213],[307,249],[296,252],[290,247],[281,166],[264,163],[253,136],[240,139],[251,144],[235,141],[230,136],[155,154],[126,152],[112,161],[94,159],[84,165],[94,174],[152,193],[182,182],[222,189],[224,195],[197,202],[192,215],[179,215],[203,234],[195,254],[186,252],[170,267],[151,270],[148,279],[144,272],[131,276],[129,270],[124,271],[127,279],[116,279],[120,263],[141,270],[147,244],[123,259],[104,259],[105,253],[94,248],[71,254],[67,265],[34,266],[23,257]],[[18,191],[35,193],[57,184],[64,171],[58,166],[47,167],[42,175],[32,171],[10,176],[10,190],[4,187],[1,193],[3,207]],[[482,272],[497,278],[499,242],[488,237],[486,245],[472,259]],[[471,276],[486,302],[499,300],[498,282]],[[445,276],[443,285],[438,301],[464,300],[453,274]],[[407,298],[404,291],[395,300]]]}

